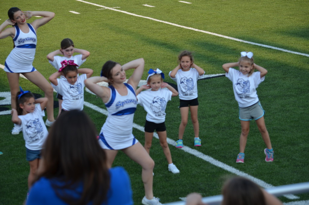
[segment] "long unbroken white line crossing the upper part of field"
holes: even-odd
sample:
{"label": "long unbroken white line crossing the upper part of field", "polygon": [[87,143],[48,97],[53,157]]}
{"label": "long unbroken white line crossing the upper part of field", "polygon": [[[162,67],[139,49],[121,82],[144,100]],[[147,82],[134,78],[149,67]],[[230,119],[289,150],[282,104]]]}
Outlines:
{"label": "long unbroken white line crossing the upper part of field", "polygon": [[158,21],[158,22],[161,22],[161,23],[164,23],[164,24],[169,24],[169,25],[172,25],[172,26],[180,27],[180,28],[186,28],[186,29],[190,29],[190,30],[193,30],[193,31],[197,31],[197,32],[202,32],[202,33],[207,33],[207,34],[218,36],[218,37],[222,37],[222,38],[227,38],[227,39],[230,39],[230,40],[233,40],[233,41],[239,41],[239,42],[242,42],[242,43],[248,43],[248,44],[255,45],[255,46],[261,46],[261,47],[265,47],[265,48],[270,48],[270,49],[274,49],[274,50],[280,50],[280,51],[287,52],[287,53],[292,53],[292,54],[296,54],[296,55],[303,55],[303,56],[309,57],[309,54],[306,54],[306,53],[300,53],[300,52],[296,52],[296,51],[292,51],[292,50],[286,50],[286,49],[278,48],[278,47],[275,47],[275,46],[268,46],[268,45],[265,45],[265,44],[254,43],[254,42],[251,42],[251,41],[244,41],[244,40],[241,40],[241,39],[238,39],[238,38],[224,36],[224,35],[221,35],[221,34],[218,34],[218,33],[212,33],[212,32],[209,32],[209,31],[203,31],[203,30],[200,30],[200,29],[197,29],[197,28],[191,28],[191,27],[187,27],[187,26],[182,26],[182,25],[179,25],[179,24],[174,24],[174,23],[170,23],[170,22],[167,22],[167,21],[162,21],[162,20],[150,18],[150,17],[147,17],[147,16],[133,14],[133,13],[130,13],[130,12],[127,12],[127,11],[121,11],[121,10],[118,10],[118,9],[113,9],[113,8],[105,7],[105,6],[102,6],[102,5],[99,5],[99,4],[95,4],[95,3],[91,3],[91,2],[86,2],[86,1],[83,1],[83,0],[75,0],[75,1],[91,4],[91,5],[94,5],[94,6],[97,6],[97,7],[103,7],[103,8],[106,8],[106,9],[110,9],[112,11],[118,11],[118,12],[122,12],[122,13],[125,13],[125,14],[137,16],[137,17],[142,17],[142,18],[145,18],[145,19],[153,20],[153,21]]}

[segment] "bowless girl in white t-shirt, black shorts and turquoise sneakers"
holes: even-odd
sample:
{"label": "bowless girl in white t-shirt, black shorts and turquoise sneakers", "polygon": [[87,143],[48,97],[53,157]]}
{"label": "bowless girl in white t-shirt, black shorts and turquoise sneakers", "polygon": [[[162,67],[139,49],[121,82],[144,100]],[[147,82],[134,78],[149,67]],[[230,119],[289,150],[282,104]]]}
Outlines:
{"label": "bowless girl in white t-shirt, black shorts and turquoise sneakers", "polygon": [[197,79],[203,76],[205,71],[193,63],[193,55],[190,51],[182,51],[178,56],[178,60],[179,65],[169,73],[171,79],[177,82],[180,99],[181,123],[176,147],[182,148],[184,146],[182,138],[188,123],[189,108],[194,130],[194,146],[201,146],[200,126],[197,119]]}

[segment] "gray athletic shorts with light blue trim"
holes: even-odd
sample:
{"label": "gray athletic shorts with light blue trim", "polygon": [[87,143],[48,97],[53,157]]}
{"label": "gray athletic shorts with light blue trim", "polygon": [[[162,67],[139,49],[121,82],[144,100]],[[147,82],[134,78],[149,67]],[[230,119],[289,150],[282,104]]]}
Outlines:
{"label": "gray athletic shorts with light blue trim", "polygon": [[258,120],[263,117],[264,114],[265,111],[263,110],[260,101],[249,107],[239,107],[239,120]]}

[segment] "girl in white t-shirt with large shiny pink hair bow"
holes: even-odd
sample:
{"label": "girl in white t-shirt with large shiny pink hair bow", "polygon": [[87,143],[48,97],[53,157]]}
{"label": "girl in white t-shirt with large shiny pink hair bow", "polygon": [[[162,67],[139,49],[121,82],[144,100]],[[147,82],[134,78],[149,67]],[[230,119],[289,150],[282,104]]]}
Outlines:
{"label": "girl in white t-shirt with large shiny pink hair bow", "polygon": [[[84,81],[92,75],[93,70],[89,68],[77,69],[73,60],[64,60],[58,72],[49,77],[53,88],[62,95],[61,112],[69,110],[83,110],[84,108]],[[78,76],[78,73],[82,75]],[[61,75],[65,79],[58,78]]]}

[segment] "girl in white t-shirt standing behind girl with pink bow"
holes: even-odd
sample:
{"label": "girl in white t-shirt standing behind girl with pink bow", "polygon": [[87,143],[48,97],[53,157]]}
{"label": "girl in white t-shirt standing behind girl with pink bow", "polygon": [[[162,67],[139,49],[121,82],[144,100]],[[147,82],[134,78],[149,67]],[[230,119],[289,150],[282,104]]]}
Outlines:
{"label": "girl in white t-shirt standing behind girl with pink bow", "polygon": [[[49,60],[48,62],[59,71],[61,68],[61,62],[64,60],[74,60],[78,66],[81,66],[90,55],[89,51],[83,49],[77,49],[74,47],[74,43],[70,38],[65,38],[61,41],[61,49],[55,50],[49,53],[46,57]],[[73,55],[74,53],[79,53],[78,55]],[[59,56],[63,55],[63,56]],[[61,76],[64,78],[64,76]],[[61,113],[62,108],[62,95],[57,93],[57,98],[59,102],[59,112],[58,116]]]}

